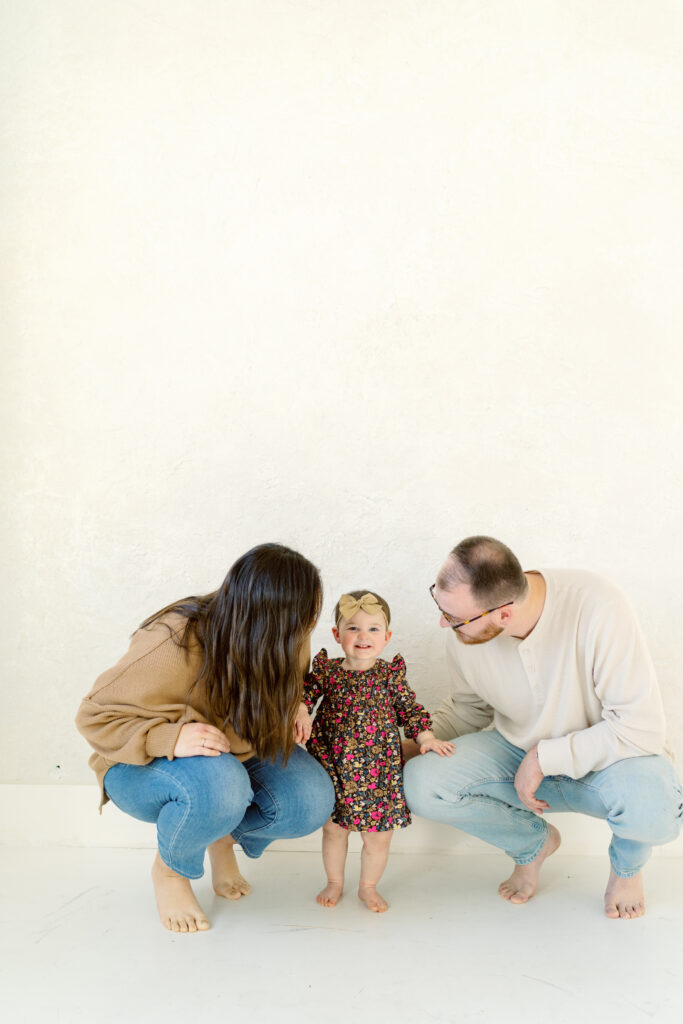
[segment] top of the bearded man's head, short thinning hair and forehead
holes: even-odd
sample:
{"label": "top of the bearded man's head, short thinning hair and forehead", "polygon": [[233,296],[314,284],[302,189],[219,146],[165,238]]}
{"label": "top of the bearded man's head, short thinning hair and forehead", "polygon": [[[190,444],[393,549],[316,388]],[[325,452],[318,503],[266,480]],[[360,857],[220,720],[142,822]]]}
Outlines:
{"label": "top of the bearded man's head, short thinning hair and forehead", "polygon": [[457,544],[436,578],[440,590],[467,584],[481,607],[495,608],[526,596],[528,584],[510,549],[493,537],[467,537]]}

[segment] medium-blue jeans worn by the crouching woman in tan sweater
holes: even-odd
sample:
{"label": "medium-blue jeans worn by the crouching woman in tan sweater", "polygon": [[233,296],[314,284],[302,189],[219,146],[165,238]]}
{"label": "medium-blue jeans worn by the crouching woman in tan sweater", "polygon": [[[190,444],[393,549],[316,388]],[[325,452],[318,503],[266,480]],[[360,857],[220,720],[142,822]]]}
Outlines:
{"label": "medium-blue jeans worn by the crouching woman in tan sweater", "polygon": [[259,857],[274,839],[319,828],[335,800],[330,776],[300,746],[286,766],[231,754],[117,764],[104,791],[126,814],[156,822],[162,860],[186,879],[204,874],[206,848],[216,840],[231,836],[248,857]]}

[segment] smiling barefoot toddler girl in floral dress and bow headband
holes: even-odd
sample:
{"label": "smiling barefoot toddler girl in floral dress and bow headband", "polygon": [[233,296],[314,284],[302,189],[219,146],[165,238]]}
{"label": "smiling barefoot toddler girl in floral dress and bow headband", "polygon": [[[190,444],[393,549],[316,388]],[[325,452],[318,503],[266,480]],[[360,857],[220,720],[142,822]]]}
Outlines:
{"label": "smiling barefoot toddler girl in floral dress and bow headband", "polygon": [[304,683],[304,703],[315,715],[308,751],[329,772],[335,809],[323,829],[323,863],[328,884],[317,895],[334,906],[344,886],[348,833],[362,837],[358,897],[377,913],[387,903],[377,892],[394,828],[411,823],[401,777],[401,725],[420,752],[450,756],[453,743],[436,739],[431,719],[405,683],[405,663],[380,654],[391,639],[389,605],[378,594],[352,591],[340,597],[332,630],[344,657],[315,655]]}

